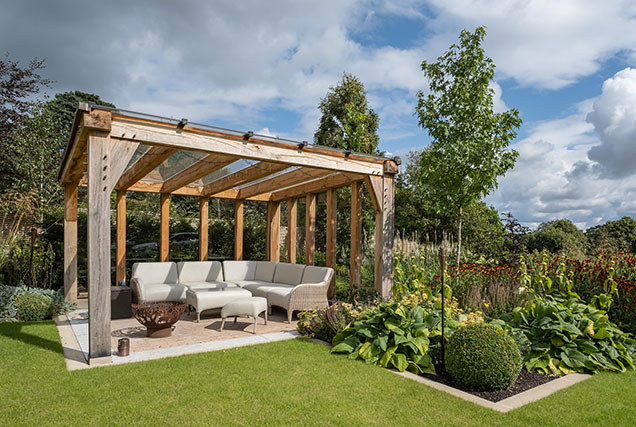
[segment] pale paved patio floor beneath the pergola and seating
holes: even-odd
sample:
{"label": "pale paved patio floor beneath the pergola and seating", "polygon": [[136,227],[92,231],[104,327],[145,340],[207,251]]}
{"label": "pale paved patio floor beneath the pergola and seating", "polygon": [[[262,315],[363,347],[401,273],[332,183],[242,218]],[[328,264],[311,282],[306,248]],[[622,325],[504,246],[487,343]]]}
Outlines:
{"label": "pale paved patio floor beneath the pergola and seating", "polygon": [[[268,316],[267,325],[260,317],[256,334],[252,333],[251,318],[231,319],[221,326],[221,310],[206,311],[201,322],[196,322],[194,313],[184,313],[175,324],[172,336],[166,338],[147,338],[146,328],[132,317],[111,321],[112,363],[130,363],[142,360],[179,356],[182,354],[224,350],[245,345],[292,339],[299,336],[296,332],[296,320],[287,323],[284,310],[274,311]],[[78,309],[56,319],[64,354],[69,370],[88,368],[88,308],[87,300],[80,300]],[[117,342],[120,338],[130,339],[130,355],[117,356]],[[94,366],[94,365],[93,365]]]}

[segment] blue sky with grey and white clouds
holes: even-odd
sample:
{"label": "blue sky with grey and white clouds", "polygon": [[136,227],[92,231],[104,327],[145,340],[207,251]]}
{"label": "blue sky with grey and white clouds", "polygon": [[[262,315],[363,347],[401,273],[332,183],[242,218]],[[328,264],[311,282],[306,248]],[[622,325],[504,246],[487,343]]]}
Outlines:
{"label": "blue sky with grey and white clouds", "polygon": [[[636,218],[636,2],[621,0],[0,0],[0,51],[46,58],[49,94],[309,140],[343,72],[380,117],[380,149],[430,141],[415,116],[435,61],[486,26],[494,105],[523,119],[486,201],[523,224]],[[399,207],[398,207],[399,208]]]}

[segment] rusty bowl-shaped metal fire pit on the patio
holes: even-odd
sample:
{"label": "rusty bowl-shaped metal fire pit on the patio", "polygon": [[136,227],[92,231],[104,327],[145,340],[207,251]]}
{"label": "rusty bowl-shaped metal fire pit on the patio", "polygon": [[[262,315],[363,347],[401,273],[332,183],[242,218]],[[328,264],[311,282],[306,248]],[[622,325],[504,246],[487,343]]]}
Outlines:
{"label": "rusty bowl-shaped metal fire pit on the patio", "polygon": [[148,302],[131,305],[135,318],[146,327],[149,338],[165,338],[172,335],[174,325],[185,311],[181,302]]}

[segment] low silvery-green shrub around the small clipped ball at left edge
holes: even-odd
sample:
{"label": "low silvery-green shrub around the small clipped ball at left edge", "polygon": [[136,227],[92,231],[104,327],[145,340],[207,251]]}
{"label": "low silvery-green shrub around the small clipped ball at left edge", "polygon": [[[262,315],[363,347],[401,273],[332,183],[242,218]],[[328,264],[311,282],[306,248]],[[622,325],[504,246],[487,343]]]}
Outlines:
{"label": "low silvery-green shrub around the small clipped ball at left edge", "polygon": [[[31,315],[27,312],[30,304],[38,301],[38,298],[49,301],[50,311],[47,312],[46,318],[50,318],[52,314],[66,313],[74,308],[72,304],[64,301],[64,293],[61,290],[0,285],[0,322],[26,320],[25,317],[29,318]],[[21,312],[21,310],[27,311]]]}

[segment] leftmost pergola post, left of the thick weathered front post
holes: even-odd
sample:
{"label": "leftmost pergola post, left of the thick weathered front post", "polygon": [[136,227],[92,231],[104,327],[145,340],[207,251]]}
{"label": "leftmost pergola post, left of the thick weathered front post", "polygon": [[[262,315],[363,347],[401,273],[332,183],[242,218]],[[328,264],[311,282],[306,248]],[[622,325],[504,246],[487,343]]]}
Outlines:
{"label": "leftmost pergola post, left of the thick weathered front post", "polygon": [[77,304],[77,183],[64,184],[64,301]]}

